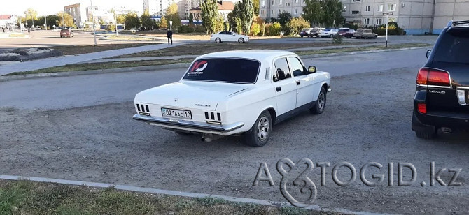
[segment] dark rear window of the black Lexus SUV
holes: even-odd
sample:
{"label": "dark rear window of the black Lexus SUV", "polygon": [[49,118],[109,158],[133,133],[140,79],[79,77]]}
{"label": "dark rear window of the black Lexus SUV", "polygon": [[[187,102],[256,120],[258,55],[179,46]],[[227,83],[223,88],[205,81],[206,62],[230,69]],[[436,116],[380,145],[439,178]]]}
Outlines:
{"label": "dark rear window of the black Lexus SUV", "polygon": [[434,61],[469,64],[469,28],[451,29],[441,37],[435,50]]}

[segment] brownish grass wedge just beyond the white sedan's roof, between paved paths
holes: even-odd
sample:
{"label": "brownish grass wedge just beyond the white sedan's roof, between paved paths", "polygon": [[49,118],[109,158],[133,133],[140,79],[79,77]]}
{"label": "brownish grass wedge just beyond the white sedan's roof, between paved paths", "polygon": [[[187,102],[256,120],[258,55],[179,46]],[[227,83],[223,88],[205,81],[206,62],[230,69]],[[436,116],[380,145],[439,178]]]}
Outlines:
{"label": "brownish grass wedge just beyond the white sedan's roof, between paved paths", "polygon": [[[341,45],[355,45],[356,43],[342,43]],[[363,44],[363,43],[360,43]],[[138,52],[134,54],[125,54],[120,57],[158,57],[158,56],[179,56],[179,55],[201,55],[211,52],[220,52],[228,50],[286,50],[302,47],[326,47],[333,46],[332,43],[193,43],[187,45],[178,45],[162,50],[153,50],[148,52]]]}

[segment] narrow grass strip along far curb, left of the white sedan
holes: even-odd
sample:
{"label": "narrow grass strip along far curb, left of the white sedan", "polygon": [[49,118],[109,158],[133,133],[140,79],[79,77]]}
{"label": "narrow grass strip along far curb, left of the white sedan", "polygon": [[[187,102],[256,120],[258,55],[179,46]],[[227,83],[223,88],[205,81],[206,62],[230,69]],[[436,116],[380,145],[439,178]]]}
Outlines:
{"label": "narrow grass strip along far curb, left of the white sedan", "polygon": [[69,71],[92,71],[92,70],[99,70],[99,69],[124,68],[124,67],[136,67],[136,66],[158,66],[158,65],[177,64],[177,63],[190,63],[193,60],[194,59],[192,58],[183,58],[183,59],[176,59],[176,60],[171,59],[171,60],[153,60],[153,61],[114,61],[114,62],[108,62],[108,63],[69,64],[65,66],[42,68],[42,69],[38,69],[34,71],[8,73],[3,76],[37,74],[37,73],[59,73],[59,72],[69,72]]}

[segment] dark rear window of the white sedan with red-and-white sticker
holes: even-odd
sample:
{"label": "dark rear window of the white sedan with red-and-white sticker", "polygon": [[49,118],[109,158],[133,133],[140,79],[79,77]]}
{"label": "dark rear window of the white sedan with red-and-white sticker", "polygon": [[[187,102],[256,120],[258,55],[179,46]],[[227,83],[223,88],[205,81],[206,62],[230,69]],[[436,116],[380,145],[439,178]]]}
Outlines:
{"label": "dark rear window of the white sedan with red-and-white sticker", "polygon": [[251,59],[200,59],[190,66],[183,80],[253,84],[257,80],[259,67],[260,62]]}

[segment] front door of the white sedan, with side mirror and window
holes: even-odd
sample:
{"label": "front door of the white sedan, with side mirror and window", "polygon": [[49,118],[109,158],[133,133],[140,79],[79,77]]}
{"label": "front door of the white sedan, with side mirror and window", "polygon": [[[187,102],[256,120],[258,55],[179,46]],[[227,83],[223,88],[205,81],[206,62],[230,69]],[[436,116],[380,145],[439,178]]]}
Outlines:
{"label": "front door of the white sedan, with side mirror and window", "polygon": [[[311,75],[302,62],[297,57],[288,57],[288,66],[293,73],[293,79],[297,85],[296,90],[296,107],[309,105],[312,101],[316,100],[313,95],[316,95],[316,87],[314,75]],[[316,91],[315,91],[316,90]]]}

